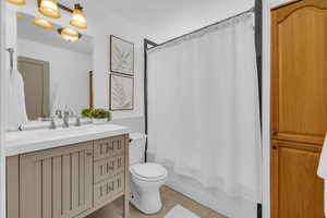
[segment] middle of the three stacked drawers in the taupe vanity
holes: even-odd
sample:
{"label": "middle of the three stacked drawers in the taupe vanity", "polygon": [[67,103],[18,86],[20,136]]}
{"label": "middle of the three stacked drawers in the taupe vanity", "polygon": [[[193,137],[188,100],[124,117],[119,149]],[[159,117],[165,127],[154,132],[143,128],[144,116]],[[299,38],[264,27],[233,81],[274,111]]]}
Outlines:
{"label": "middle of the three stacked drawers in the taupe vanity", "polygon": [[98,183],[124,170],[124,156],[114,156],[94,162],[94,182]]}

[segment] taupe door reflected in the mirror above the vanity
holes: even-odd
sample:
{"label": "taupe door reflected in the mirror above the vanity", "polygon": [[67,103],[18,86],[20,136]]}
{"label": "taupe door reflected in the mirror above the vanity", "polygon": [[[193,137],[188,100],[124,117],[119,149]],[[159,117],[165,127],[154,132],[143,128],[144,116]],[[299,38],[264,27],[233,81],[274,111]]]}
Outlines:
{"label": "taupe door reflected in the mirror above the vanity", "polygon": [[29,120],[49,117],[49,62],[19,57]]}

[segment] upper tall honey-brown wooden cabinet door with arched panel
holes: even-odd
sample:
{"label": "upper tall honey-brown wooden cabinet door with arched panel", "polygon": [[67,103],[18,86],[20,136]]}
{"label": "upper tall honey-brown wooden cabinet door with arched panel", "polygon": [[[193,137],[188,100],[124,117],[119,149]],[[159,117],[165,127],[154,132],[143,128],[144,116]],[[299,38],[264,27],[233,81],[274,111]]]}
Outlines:
{"label": "upper tall honey-brown wooden cabinet door with arched panel", "polygon": [[271,12],[272,138],[322,144],[327,132],[327,1]]}

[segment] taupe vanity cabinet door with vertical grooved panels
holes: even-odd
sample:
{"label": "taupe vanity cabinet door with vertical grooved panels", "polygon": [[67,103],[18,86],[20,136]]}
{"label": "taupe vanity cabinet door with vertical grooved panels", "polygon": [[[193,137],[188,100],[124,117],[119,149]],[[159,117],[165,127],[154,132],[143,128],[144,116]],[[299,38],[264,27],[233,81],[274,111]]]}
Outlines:
{"label": "taupe vanity cabinet door with vertical grooved panels", "polygon": [[20,218],[72,218],[93,206],[93,143],[22,155]]}

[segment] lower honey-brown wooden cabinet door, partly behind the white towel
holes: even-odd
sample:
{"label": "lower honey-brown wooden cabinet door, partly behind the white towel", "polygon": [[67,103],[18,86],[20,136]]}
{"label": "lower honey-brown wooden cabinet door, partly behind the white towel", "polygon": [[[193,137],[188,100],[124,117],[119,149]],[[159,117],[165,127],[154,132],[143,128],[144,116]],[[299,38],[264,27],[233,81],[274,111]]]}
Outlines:
{"label": "lower honey-brown wooden cabinet door, partly behind the white towel", "polygon": [[324,217],[319,154],[319,146],[272,141],[271,218]]}

